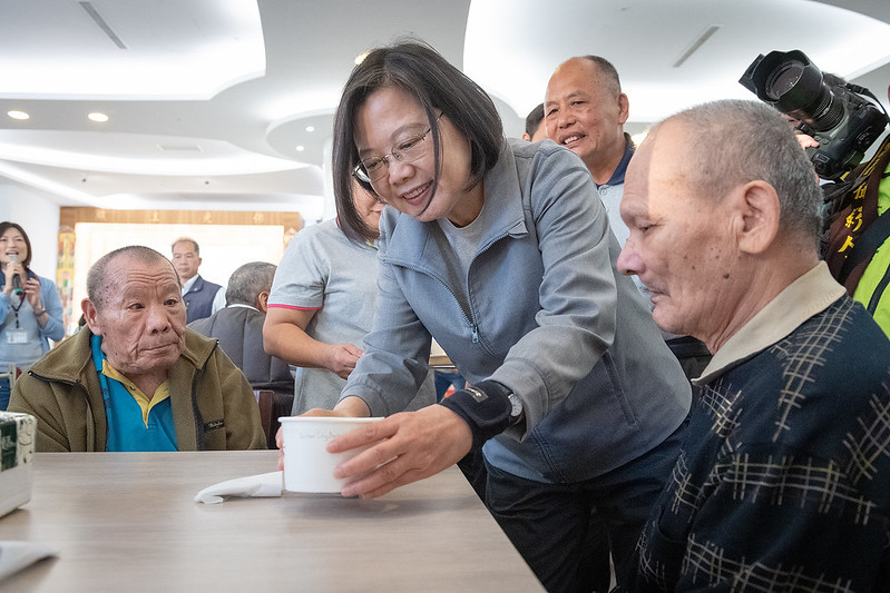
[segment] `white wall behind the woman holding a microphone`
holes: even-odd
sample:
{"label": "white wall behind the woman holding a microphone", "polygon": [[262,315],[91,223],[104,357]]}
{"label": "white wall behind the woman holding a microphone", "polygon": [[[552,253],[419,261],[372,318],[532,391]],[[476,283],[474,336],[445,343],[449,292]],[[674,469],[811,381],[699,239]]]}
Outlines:
{"label": "white wall behind the woman holding a microphone", "polygon": [[31,268],[56,281],[59,206],[49,194],[0,178],[0,220],[21,225],[31,240]]}

